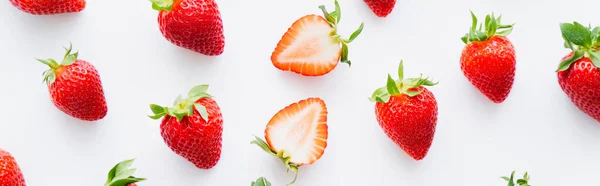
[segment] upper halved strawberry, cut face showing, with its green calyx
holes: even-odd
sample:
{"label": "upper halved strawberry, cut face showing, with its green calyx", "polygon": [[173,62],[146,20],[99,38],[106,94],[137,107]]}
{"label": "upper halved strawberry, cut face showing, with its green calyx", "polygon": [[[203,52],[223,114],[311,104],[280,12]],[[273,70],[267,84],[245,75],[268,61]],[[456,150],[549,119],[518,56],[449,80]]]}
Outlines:
{"label": "upper halved strawberry, cut face showing, with its green calyx", "polygon": [[335,11],[331,13],[323,5],[319,8],[325,17],[314,14],[303,16],[281,37],[271,54],[271,62],[277,69],[304,76],[321,76],[331,72],[340,59],[342,63],[351,64],[348,44],[358,37],[364,24],[349,39],[343,39],[337,34],[337,24],[342,15],[337,0]]}

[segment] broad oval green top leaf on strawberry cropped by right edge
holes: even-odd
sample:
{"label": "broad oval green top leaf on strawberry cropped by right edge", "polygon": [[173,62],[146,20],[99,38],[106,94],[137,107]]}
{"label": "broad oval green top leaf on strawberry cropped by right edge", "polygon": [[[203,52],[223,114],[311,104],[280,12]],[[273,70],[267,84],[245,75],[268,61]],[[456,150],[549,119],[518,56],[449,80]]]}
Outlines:
{"label": "broad oval green top leaf on strawberry cropped by right edge", "polygon": [[577,22],[573,22],[573,24],[561,23],[560,30],[567,41],[570,41],[575,45],[591,47],[592,34],[585,26]]}

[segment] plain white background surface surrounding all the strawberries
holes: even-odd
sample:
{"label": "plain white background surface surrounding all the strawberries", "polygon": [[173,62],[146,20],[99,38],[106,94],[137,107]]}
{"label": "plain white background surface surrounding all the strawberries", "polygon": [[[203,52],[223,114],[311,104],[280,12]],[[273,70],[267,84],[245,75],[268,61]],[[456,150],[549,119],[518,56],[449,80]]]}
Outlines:
{"label": "plain white background surface surrounding all the strawberries", "polygon": [[[292,102],[318,96],[327,103],[329,146],[300,169],[296,185],[506,185],[499,177],[531,173],[541,186],[600,184],[600,124],[562,92],[554,70],[568,53],[560,22],[600,24],[600,2],[573,0],[401,0],[386,19],[361,0],[342,0],[340,34],[361,22],[350,44],[351,68],[309,78],[281,72],[270,55],[286,29],[306,14],[333,10],[332,0],[218,0],[226,47],[219,57],[178,48],[160,34],[157,12],[144,0],[90,0],[78,14],[31,16],[0,2],[0,148],[18,160],[31,186],[102,185],[117,162],[137,157],[142,186],[249,185],[266,176],[291,181],[283,164],[250,145],[269,119]],[[516,22],[509,36],[517,74],[508,99],[493,104],[462,75],[460,37],[495,11]],[[101,121],[73,119],[52,105],[34,60],[60,58],[71,41],[101,74],[109,111]],[[431,90],[439,121],[428,156],[414,161],[378,126],[368,97],[395,73],[439,80]],[[208,83],[224,116],[223,152],[200,170],[164,144],[148,105]]]}

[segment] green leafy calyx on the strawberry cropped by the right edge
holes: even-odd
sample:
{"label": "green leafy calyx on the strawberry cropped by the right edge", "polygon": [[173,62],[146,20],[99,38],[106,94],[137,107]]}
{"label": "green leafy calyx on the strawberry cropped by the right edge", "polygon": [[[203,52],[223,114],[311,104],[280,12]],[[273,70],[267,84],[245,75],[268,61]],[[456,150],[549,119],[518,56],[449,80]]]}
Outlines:
{"label": "green leafy calyx on the strawberry cropped by the right edge", "polygon": [[583,57],[589,57],[594,66],[600,68],[600,27],[585,27],[578,22],[561,23],[560,31],[565,40],[564,47],[573,55],[560,62],[557,72],[567,70],[571,64]]}

